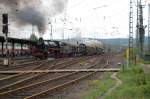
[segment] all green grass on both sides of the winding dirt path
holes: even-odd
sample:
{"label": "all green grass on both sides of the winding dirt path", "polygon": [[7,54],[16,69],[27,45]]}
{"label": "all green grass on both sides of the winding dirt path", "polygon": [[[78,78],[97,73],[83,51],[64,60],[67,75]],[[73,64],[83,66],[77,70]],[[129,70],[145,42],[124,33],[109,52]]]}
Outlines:
{"label": "all green grass on both sides of the winding dirt path", "polygon": [[[150,70],[144,72],[141,66],[131,67],[117,74],[122,84],[110,95],[104,96],[104,99],[150,99]],[[115,85],[110,75],[107,73],[101,80],[90,81],[90,88],[83,93],[81,99],[98,99],[103,96]]]}

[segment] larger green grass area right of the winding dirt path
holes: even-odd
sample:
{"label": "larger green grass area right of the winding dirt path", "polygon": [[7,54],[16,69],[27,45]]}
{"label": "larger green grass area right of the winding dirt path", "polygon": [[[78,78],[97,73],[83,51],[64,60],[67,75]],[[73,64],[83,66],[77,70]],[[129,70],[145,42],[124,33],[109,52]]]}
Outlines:
{"label": "larger green grass area right of the winding dirt path", "polygon": [[105,99],[150,99],[150,72],[144,73],[140,66],[121,71],[118,77],[122,85]]}

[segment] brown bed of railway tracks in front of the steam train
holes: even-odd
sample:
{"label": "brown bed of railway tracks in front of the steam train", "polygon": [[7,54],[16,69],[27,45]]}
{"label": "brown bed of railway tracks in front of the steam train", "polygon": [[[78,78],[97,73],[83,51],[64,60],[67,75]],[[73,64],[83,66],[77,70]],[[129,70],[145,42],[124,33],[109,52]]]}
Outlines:
{"label": "brown bed of railway tracks in front of the steam train", "polygon": [[[111,54],[103,54],[55,60],[26,60],[20,64],[5,66],[0,69],[0,97],[4,99],[49,99],[62,88],[77,84],[90,76],[94,77],[98,73],[96,69],[113,68],[110,64],[112,57]],[[95,71],[2,73],[2,71],[65,69],[95,69]]]}

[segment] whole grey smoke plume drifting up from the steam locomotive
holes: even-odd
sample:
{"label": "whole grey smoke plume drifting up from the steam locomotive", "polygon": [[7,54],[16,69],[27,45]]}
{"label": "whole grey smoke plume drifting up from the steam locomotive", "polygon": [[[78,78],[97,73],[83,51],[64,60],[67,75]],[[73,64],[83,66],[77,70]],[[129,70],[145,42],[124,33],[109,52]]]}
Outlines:
{"label": "whole grey smoke plume drifting up from the steam locomotive", "polygon": [[11,12],[19,26],[31,24],[38,28],[39,33],[44,33],[46,30],[46,15],[52,17],[63,12],[67,0],[47,0],[52,1],[52,4],[49,4],[52,9],[44,9],[44,6],[41,5],[42,1],[45,0],[0,0],[0,6]]}

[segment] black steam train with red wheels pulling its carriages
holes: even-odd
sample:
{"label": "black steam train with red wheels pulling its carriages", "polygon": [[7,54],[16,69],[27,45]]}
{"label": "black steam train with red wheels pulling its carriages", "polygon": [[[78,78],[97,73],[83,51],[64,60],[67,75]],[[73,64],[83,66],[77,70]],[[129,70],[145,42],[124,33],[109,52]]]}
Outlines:
{"label": "black steam train with red wheels pulling its carriages", "polygon": [[69,43],[39,38],[37,44],[31,48],[31,54],[35,58],[63,58],[103,54],[102,44],[96,43]]}

